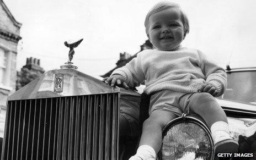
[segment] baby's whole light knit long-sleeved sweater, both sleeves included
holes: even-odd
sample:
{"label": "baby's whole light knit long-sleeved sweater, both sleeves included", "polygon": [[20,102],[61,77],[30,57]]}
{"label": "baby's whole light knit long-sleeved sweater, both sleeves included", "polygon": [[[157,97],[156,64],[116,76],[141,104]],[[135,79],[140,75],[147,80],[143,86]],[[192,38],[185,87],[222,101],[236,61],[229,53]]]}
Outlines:
{"label": "baby's whole light knit long-sleeved sweater, both sleeves included", "polygon": [[145,80],[147,94],[160,90],[197,92],[202,84],[210,82],[220,96],[227,86],[223,68],[199,50],[184,47],[178,51],[144,50],[113,74],[122,75],[130,87],[139,86]]}

